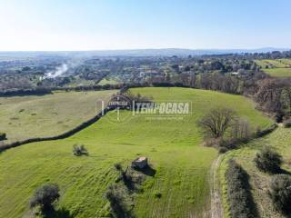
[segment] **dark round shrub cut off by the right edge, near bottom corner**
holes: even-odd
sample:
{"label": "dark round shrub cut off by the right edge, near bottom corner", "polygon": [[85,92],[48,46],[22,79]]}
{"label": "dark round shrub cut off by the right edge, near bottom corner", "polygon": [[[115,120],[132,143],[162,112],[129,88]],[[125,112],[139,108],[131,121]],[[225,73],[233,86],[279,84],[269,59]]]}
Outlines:
{"label": "dark round shrub cut off by the right edge, near bottom corner", "polygon": [[276,174],[271,180],[269,195],[277,211],[291,213],[291,176]]}

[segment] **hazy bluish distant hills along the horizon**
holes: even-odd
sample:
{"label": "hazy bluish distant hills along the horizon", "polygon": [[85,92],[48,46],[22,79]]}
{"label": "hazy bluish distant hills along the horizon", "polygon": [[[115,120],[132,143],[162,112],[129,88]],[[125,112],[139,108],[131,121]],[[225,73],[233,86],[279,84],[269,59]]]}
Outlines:
{"label": "hazy bluish distant hills along the horizon", "polygon": [[288,48],[257,48],[257,49],[127,49],[127,50],[92,50],[92,51],[55,51],[55,52],[0,52],[0,56],[36,57],[36,56],[187,56],[207,54],[242,54],[242,53],[267,53],[273,51],[288,51]]}

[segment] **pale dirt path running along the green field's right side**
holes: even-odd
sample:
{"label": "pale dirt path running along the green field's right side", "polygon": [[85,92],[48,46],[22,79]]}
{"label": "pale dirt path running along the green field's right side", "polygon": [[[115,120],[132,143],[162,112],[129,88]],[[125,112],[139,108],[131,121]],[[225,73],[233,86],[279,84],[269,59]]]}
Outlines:
{"label": "pale dirt path running along the green field's right side", "polygon": [[223,206],[221,202],[220,189],[219,189],[219,179],[217,175],[217,170],[219,163],[224,154],[218,156],[216,161],[211,166],[210,173],[210,185],[211,185],[211,218],[223,218]]}

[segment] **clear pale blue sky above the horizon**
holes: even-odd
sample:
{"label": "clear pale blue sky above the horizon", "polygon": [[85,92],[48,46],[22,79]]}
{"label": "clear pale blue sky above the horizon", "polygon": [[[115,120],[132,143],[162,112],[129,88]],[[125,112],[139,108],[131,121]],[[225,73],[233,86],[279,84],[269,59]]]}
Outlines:
{"label": "clear pale blue sky above the horizon", "polygon": [[0,0],[0,50],[291,48],[290,0]]}

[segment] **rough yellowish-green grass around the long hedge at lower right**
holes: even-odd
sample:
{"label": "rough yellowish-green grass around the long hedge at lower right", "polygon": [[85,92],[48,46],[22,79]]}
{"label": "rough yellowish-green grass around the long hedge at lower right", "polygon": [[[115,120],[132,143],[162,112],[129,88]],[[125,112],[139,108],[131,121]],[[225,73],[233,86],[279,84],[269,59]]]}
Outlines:
{"label": "rough yellowish-green grass around the long hedge at lower right", "polygon": [[273,208],[272,202],[268,196],[268,184],[271,180],[271,175],[267,173],[259,172],[256,169],[256,165],[253,162],[256,153],[264,146],[270,146],[276,149],[284,158],[283,168],[291,173],[291,129],[279,127],[272,134],[267,135],[262,139],[255,140],[246,147],[231,151],[224,156],[224,160],[220,165],[220,181],[224,196],[225,217],[230,217],[229,208],[226,202],[226,178],[224,174],[226,172],[227,161],[230,158],[234,158],[237,163],[240,163],[246,172],[250,175],[250,183],[252,186],[252,193],[256,203],[257,211],[260,217],[272,217],[283,218],[282,214],[276,213]]}

